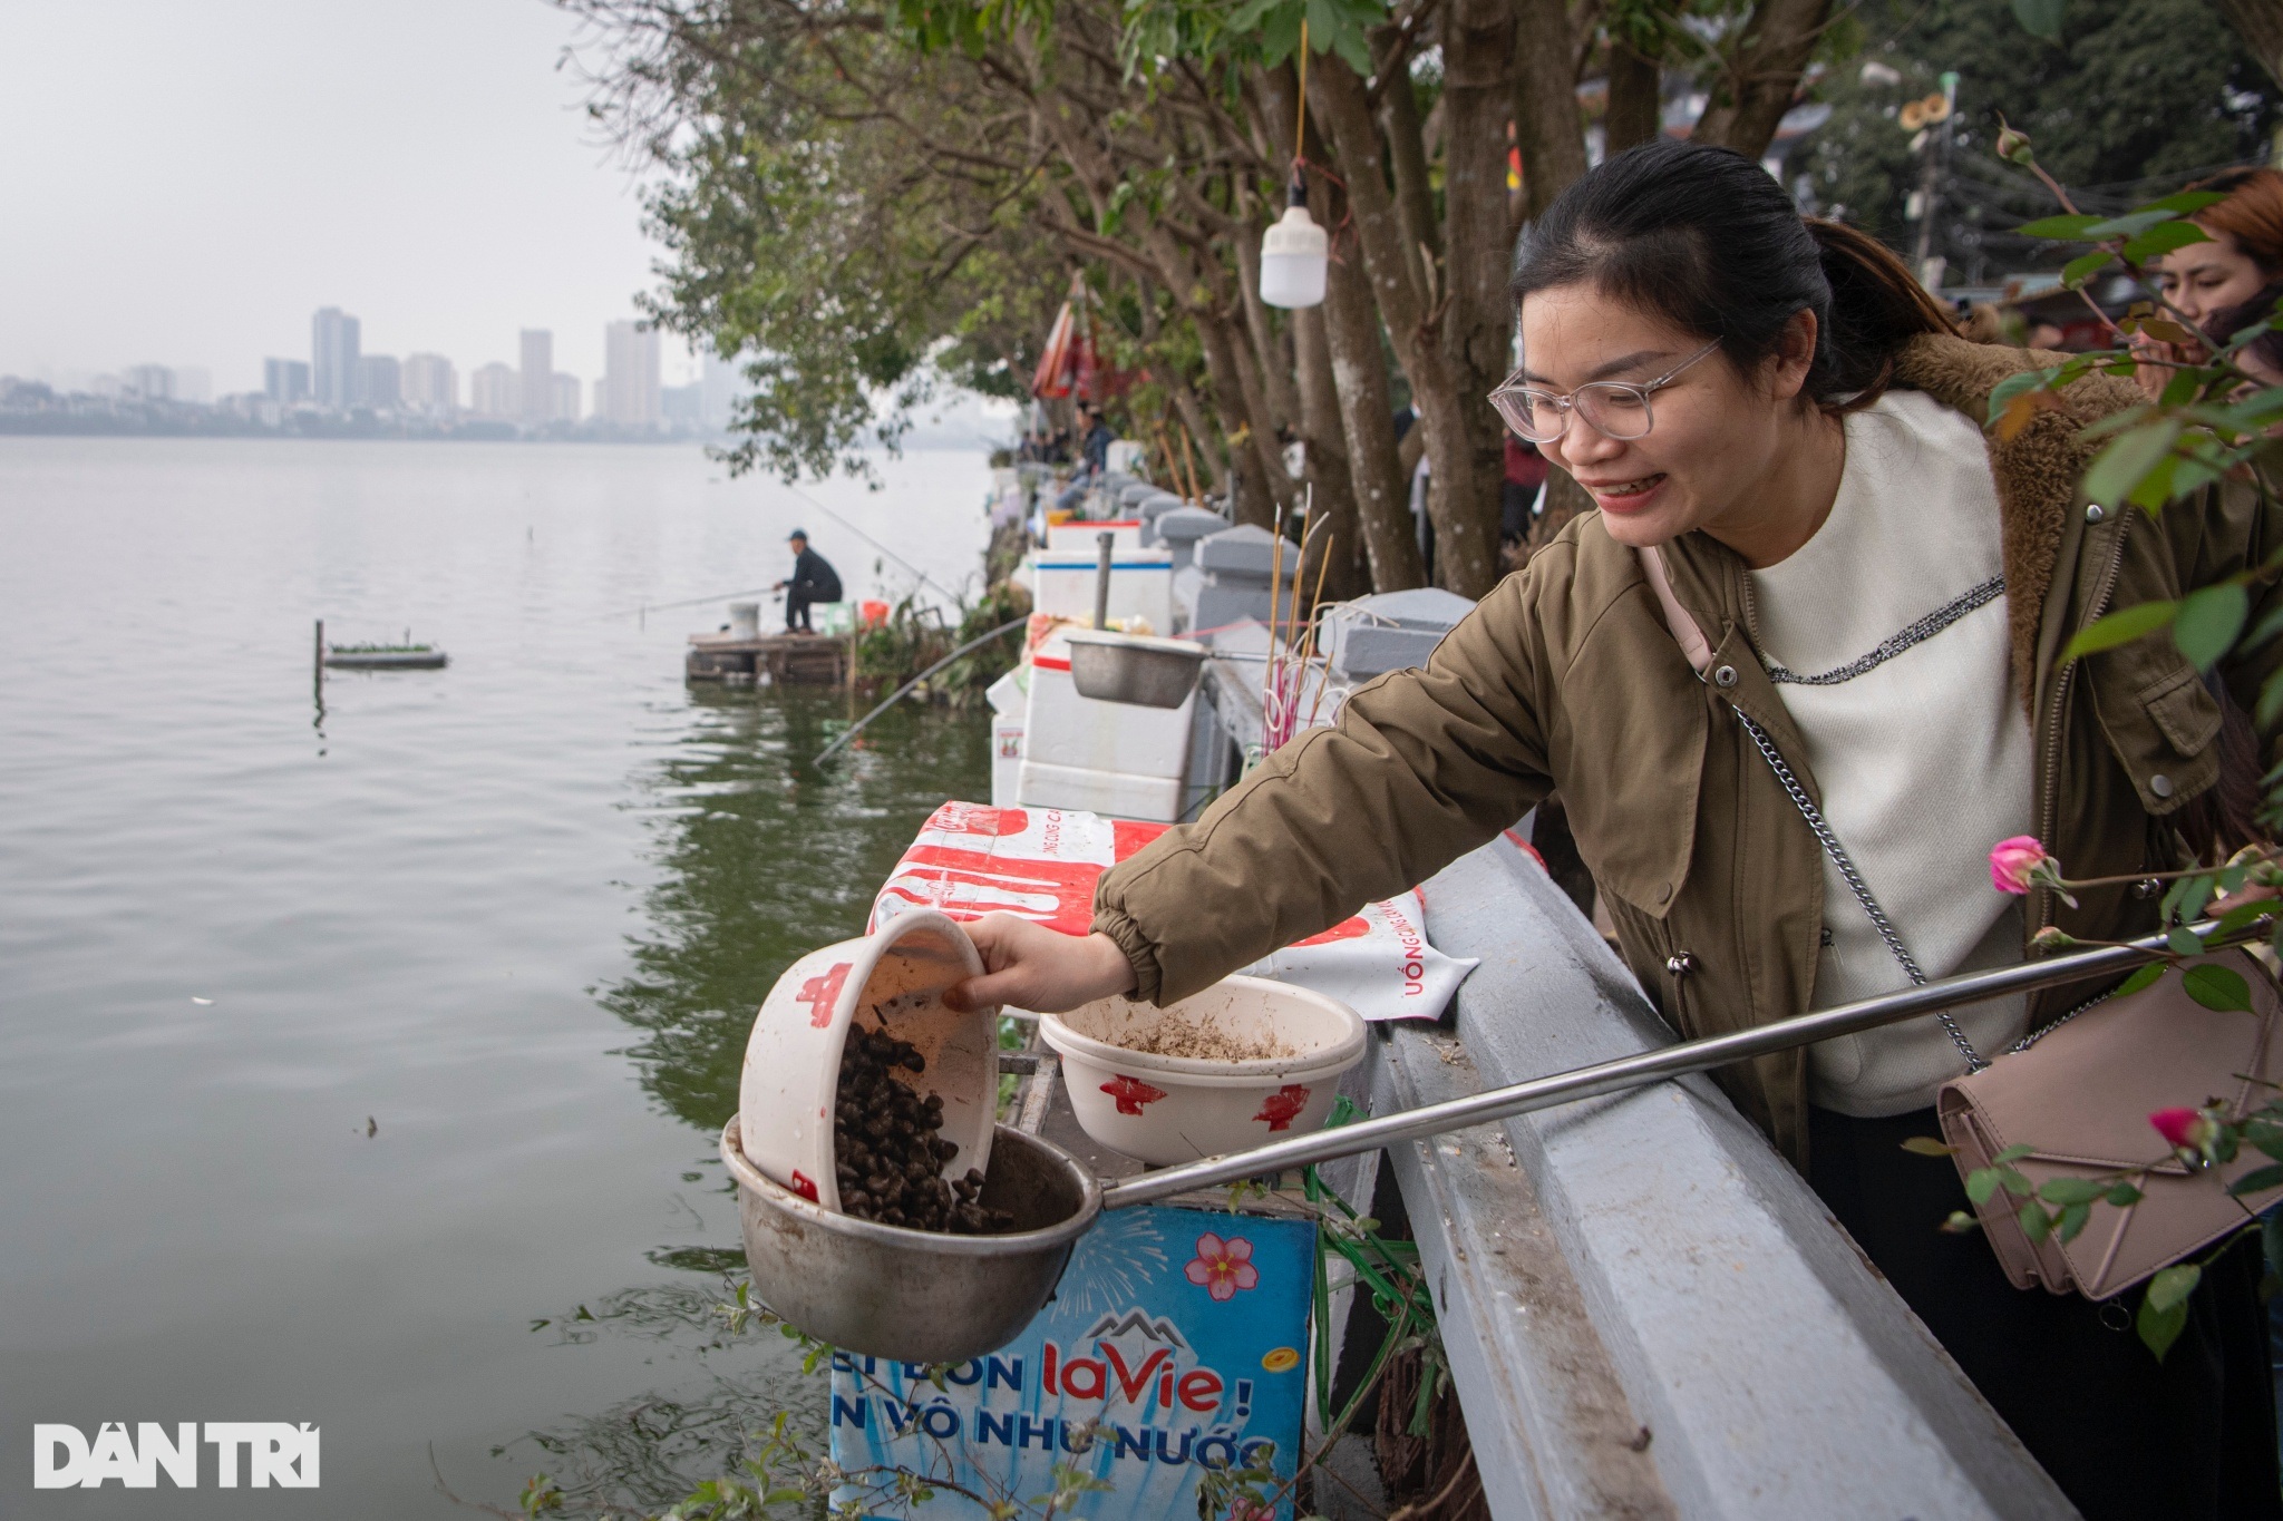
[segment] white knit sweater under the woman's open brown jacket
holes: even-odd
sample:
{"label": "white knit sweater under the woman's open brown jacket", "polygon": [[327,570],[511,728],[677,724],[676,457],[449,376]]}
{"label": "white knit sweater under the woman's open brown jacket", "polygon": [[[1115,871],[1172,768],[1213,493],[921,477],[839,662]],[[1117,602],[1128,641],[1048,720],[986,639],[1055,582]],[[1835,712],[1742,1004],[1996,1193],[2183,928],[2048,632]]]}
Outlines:
{"label": "white knit sweater under the woman's open brown jacket", "polygon": [[[2020,898],[1988,880],[1988,848],[2034,830],[2032,743],[2014,693],[1998,490],[1973,422],[1920,392],[1847,417],[1831,518],[1790,559],[1756,570],[1765,657],[1797,675],[1858,675],[1776,691],[1806,739],[1833,835],[1929,978],[2020,960]],[[1881,641],[1929,613],[1954,620],[1883,661]],[[1867,668],[1863,668],[1867,666]],[[1909,985],[1838,869],[1824,862],[1815,1006]],[[2011,1044],[2023,999],[1954,1010],[1982,1056]],[[1808,1051],[1808,1099],[1847,1115],[1925,1108],[1966,1069],[1934,1017]]]}

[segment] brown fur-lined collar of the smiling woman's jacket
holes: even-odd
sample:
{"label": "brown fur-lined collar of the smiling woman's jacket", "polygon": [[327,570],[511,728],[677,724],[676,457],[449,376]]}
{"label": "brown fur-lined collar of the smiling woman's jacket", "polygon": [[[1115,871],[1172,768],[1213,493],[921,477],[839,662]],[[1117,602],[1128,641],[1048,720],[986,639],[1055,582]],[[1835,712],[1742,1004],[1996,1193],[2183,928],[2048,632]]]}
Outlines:
{"label": "brown fur-lined collar of the smiling woman's jacket", "polygon": [[[1982,426],[1998,381],[2023,369],[2050,369],[2062,358],[1927,333],[1913,337],[1897,356],[1895,383],[1922,390]],[[2084,424],[2121,413],[2144,397],[2130,381],[2089,374],[2059,392],[2059,401],[2062,410],[2036,413],[2030,426],[2007,442],[1986,436],[2004,520],[2007,620],[2014,639],[2014,680],[2023,702],[2036,691],[2036,632],[2062,538],[2078,504],[2078,481],[2100,449],[2098,440],[2087,442],[2078,433]]]}

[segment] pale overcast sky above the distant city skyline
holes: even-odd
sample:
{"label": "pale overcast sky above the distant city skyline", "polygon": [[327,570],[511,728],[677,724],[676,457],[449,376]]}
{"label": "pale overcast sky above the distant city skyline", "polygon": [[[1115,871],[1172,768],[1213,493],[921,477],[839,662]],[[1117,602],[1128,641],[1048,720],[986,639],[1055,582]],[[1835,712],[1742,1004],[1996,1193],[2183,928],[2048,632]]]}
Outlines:
{"label": "pale overcast sky above the distant city skyline", "polygon": [[258,390],[320,306],[368,353],[466,376],[530,326],[600,374],[655,253],[573,34],[543,0],[0,0],[0,374]]}

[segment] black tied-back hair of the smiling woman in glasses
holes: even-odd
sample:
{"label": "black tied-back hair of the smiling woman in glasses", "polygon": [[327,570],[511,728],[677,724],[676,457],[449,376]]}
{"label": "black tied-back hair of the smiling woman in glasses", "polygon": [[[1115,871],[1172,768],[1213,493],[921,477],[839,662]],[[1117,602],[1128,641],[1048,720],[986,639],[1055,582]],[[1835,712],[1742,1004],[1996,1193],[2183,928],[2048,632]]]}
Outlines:
{"label": "black tied-back hair of the smiling woman in glasses", "polygon": [[1717,337],[1749,374],[1815,312],[1801,395],[1826,413],[1870,406],[1920,333],[1957,333],[1879,239],[1804,219],[1783,187],[1728,148],[1655,139],[1573,182],[1523,233],[1514,299],[1591,283],[1673,326]]}

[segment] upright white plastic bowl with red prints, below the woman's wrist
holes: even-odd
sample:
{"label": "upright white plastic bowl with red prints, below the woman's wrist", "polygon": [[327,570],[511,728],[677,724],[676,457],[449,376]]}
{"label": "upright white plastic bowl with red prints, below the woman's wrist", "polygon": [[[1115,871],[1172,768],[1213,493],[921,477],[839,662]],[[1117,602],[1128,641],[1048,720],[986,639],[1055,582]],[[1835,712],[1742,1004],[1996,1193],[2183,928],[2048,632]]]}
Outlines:
{"label": "upright white plastic bowl with red prints, below the woman's wrist", "polygon": [[[1212,1026],[1237,1040],[1274,1035],[1290,1056],[1205,1060],[1119,1044],[1146,1038],[1164,1019]],[[1151,1165],[1249,1152],[1322,1129],[1340,1074],[1363,1060],[1356,1010],[1258,976],[1221,978],[1167,1008],[1100,999],[1046,1015],[1039,1033],[1062,1054],[1080,1129]]]}

